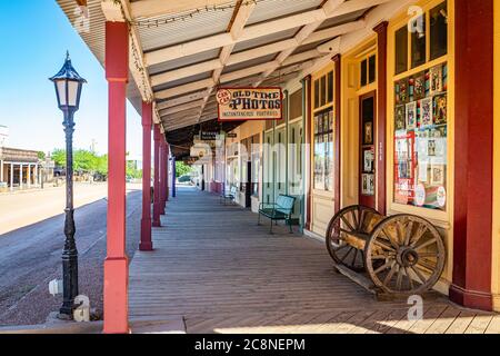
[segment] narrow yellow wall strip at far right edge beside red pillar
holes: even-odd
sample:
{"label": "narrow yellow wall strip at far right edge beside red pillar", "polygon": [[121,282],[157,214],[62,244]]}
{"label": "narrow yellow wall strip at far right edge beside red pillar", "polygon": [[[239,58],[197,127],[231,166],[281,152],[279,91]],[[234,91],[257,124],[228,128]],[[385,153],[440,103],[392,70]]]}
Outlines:
{"label": "narrow yellow wall strip at far right edge beside red pillar", "polygon": [[493,109],[493,226],[492,280],[493,309],[500,312],[500,1],[494,7],[494,109]]}

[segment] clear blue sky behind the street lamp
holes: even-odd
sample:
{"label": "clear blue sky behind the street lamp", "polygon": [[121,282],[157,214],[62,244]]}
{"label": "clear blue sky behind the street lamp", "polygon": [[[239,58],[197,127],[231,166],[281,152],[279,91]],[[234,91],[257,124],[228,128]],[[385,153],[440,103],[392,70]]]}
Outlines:
{"label": "clear blue sky behind the street lamp", "polygon": [[[108,150],[108,87],[104,71],[54,0],[0,0],[0,125],[9,146],[51,151],[64,147],[62,112],[48,80],[69,50],[73,67],[87,79],[76,115],[74,148]],[[141,155],[141,120],[128,105],[127,149]]]}

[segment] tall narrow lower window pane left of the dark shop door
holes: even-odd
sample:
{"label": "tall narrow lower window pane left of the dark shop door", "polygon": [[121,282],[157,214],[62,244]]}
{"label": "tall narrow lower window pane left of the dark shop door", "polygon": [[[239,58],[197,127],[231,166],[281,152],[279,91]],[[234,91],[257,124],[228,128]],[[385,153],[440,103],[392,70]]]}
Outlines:
{"label": "tall narrow lower window pane left of the dark shop door", "polygon": [[333,109],[314,115],[314,189],[333,190]]}

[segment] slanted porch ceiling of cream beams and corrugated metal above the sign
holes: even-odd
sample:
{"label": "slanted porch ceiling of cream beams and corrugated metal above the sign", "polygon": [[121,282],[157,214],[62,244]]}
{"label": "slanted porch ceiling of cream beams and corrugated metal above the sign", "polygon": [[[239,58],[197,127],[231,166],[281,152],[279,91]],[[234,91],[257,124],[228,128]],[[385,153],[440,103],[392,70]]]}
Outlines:
{"label": "slanted porch ceiling of cream beams and corrugated metal above the sign", "polygon": [[[284,85],[397,0],[120,0],[166,131],[217,117],[218,86]],[[111,0],[103,7],[112,17]],[[224,11],[223,11],[224,10]],[[324,46],[327,44],[327,46]],[[278,79],[277,79],[278,78]]]}

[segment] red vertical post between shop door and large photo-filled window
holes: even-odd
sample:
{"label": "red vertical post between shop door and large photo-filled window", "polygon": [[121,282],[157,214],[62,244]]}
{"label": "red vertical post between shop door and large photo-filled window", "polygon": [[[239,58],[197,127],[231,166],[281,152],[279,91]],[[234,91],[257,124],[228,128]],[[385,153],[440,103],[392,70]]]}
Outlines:
{"label": "red vertical post between shop door and large photo-filled window", "polygon": [[377,73],[377,210],[386,214],[387,196],[387,27],[388,22],[381,22],[373,28],[377,32],[378,73]]}

